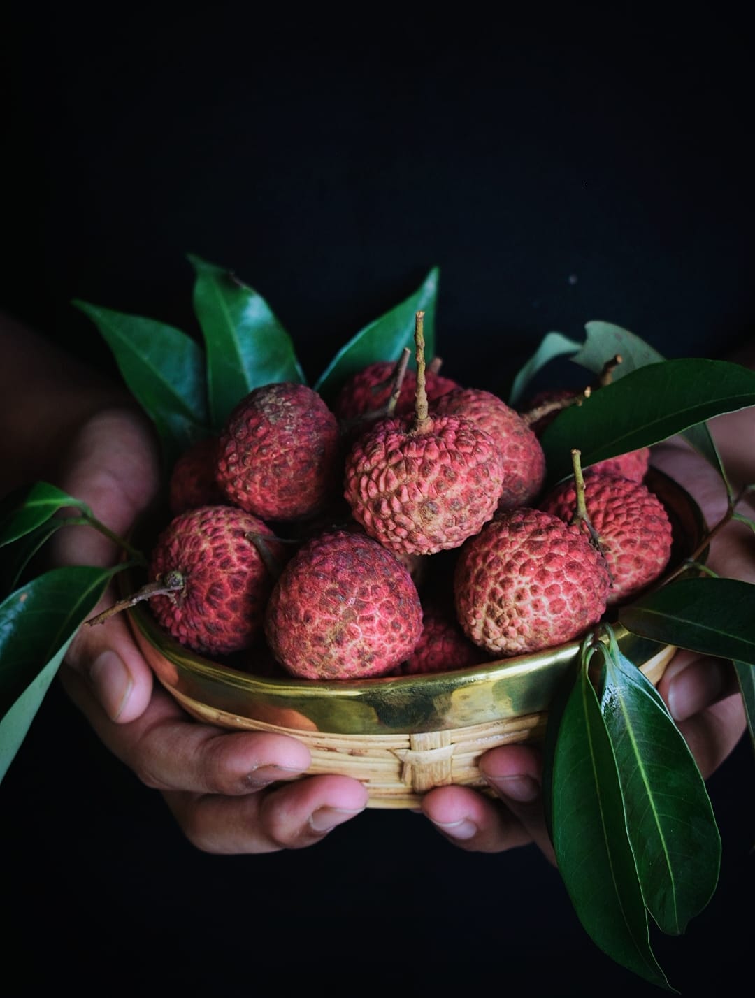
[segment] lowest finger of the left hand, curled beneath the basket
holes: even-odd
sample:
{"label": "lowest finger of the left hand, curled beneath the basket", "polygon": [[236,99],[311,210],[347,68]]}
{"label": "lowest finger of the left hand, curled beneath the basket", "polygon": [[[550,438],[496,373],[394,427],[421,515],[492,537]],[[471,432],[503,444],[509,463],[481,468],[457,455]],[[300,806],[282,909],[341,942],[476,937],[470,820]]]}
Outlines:
{"label": "lowest finger of the left hand, curled beneath the basket", "polygon": [[350,776],[311,776],[242,798],[169,792],[187,838],[205,852],[237,854],[315,845],[361,814],[368,791]]}

